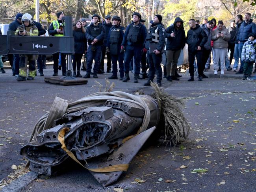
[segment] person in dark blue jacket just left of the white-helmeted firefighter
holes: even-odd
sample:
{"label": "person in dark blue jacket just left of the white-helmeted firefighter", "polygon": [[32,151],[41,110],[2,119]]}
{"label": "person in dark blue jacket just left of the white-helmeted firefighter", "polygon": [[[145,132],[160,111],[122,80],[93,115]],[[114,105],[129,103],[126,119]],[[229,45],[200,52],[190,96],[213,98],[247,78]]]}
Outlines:
{"label": "person in dark blue jacket just left of the white-helmeted firefighter", "polygon": [[[22,24],[22,21],[21,21],[22,16],[23,16],[22,13],[17,13],[15,20],[9,24],[8,31],[13,31],[14,33],[17,30],[17,28]],[[20,55],[14,54],[12,70],[13,70],[13,76],[15,77],[19,77],[19,70],[20,70],[19,63],[20,63]]]}

